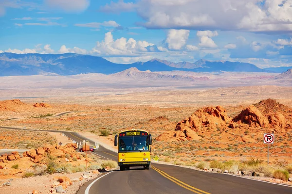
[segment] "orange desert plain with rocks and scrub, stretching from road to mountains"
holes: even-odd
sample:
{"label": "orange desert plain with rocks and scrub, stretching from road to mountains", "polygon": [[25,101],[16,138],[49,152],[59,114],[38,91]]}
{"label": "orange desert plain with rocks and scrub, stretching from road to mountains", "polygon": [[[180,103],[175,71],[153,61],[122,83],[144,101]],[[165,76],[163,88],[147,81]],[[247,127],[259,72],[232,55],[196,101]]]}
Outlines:
{"label": "orange desert plain with rocks and scrub, stretching from road to mountains", "polygon": [[[0,77],[0,126],[33,129],[0,129],[0,149],[57,144],[58,137],[39,129],[106,133],[102,142],[110,146],[119,131],[144,129],[154,140],[152,157],[161,162],[200,169],[241,162],[237,170],[248,170],[248,162],[267,164],[263,134],[274,133],[269,165],[292,173],[290,74],[190,74],[197,79],[157,79],[136,69],[110,76]],[[24,172],[0,171],[0,178]]]}

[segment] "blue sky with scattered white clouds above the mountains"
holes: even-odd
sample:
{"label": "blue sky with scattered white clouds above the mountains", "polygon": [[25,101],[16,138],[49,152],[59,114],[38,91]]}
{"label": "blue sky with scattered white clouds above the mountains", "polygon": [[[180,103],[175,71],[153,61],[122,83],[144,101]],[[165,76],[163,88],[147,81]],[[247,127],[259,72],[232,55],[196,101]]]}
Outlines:
{"label": "blue sky with scattered white clouds above the mountains", "polygon": [[0,52],[292,66],[292,0],[0,0]]}

